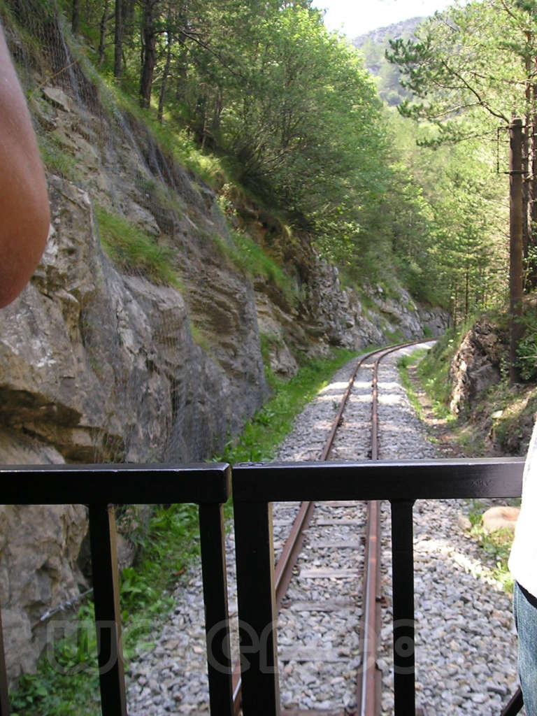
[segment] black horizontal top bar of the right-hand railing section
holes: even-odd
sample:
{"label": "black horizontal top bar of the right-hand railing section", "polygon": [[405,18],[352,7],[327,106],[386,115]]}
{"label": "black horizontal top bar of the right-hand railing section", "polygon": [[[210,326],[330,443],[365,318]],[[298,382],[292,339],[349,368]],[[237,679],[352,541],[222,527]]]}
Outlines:
{"label": "black horizontal top bar of the right-hand railing section", "polygon": [[245,463],[233,468],[233,501],[520,497],[523,465],[524,458]]}

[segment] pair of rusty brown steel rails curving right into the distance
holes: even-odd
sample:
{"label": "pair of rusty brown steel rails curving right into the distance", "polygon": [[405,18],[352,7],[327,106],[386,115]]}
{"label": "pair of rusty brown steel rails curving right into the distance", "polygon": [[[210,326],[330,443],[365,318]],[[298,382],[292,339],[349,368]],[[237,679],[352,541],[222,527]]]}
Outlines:
{"label": "pair of rusty brown steel rails curving right into the distance", "polygon": [[[342,396],[342,400],[339,404],[336,417],[332,422],[332,427],[329,432],[329,436],[324,443],[324,446],[319,453],[319,460],[324,462],[329,459],[329,455],[332,452],[332,446],[334,445],[334,439],[337,434],[338,427],[342,424],[342,417],[349,400],[349,396],[354,385],[357,373],[362,365],[374,355],[379,354],[374,364],[374,375],[372,382],[373,398],[372,398],[372,460],[378,460],[378,437],[377,437],[377,367],[386,355],[401,350],[403,348],[427,342],[427,339],[421,339],[419,341],[410,341],[407,343],[398,344],[388,349],[376,349],[370,351],[359,357],[357,364],[354,366],[351,377],[347,383],[347,388]],[[276,589],[276,607],[280,608],[281,602],[284,599],[287,588],[293,575],[293,569],[298,561],[299,554],[301,551],[302,543],[304,542],[304,531],[311,521],[311,516],[314,511],[314,503],[302,502],[299,508],[299,512],[294,518],[294,522],[289,531],[289,535],[286,538],[284,548],[281,551],[281,556],[274,568],[274,581]],[[364,584],[365,586],[365,601],[366,609],[364,609],[365,616],[362,621],[362,665],[366,666],[366,669],[362,669],[361,681],[359,683],[357,698],[362,709],[362,705],[367,705],[367,710],[362,710],[361,714],[364,716],[374,716],[375,709],[377,709],[377,703],[379,699],[379,682],[380,673],[376,668],[376,655],[377,655],[377,640],[372,639],[372,635],[377,635],[377,624],[379,619],[379,596],[377,595],[377,589],[379,584],[379,569],[380,569],[380,523],[379,523],[379,503],[372,501],[368,503],[367,508],[367,538],[366,538],[366,551],[367,558],[364,560]],[[371,569],[371,564],[374,565],[374,569]],[[373,614],[375,612],[375,614]],[[371,631],[373,629],[373,631]],[[237,662],[233,667],[233,710],[236,716],[241,712],[241,665]]]}

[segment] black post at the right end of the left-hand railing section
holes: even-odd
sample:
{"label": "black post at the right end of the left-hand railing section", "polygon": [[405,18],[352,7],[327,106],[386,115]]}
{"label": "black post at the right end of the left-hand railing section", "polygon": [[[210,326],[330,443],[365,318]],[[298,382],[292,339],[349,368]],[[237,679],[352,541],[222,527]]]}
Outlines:
{"label": "black post at the right end of the left-hand railing section", "polygon": [[233,716],[231,684],[233,669],[229,642],[228,584],[222,505],[200,504],[199,516],[211,714]]}

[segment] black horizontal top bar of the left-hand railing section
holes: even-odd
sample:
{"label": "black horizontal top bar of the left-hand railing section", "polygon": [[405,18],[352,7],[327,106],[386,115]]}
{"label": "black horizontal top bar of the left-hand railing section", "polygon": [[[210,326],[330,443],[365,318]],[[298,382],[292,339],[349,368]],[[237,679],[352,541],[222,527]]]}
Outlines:
{"label": "black horizontal top bar of the left-hand railing section", "polygon": [[1,465],[0,505],[225,503],[227,463]]}

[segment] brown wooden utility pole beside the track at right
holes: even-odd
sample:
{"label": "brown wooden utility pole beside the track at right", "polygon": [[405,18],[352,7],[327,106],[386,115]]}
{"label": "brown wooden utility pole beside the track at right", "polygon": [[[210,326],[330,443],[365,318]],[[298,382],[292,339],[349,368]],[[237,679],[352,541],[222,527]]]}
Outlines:
{"label": "brown wooden utility pole beside the track at right", "polygon": [[522,173],[522,120],[513,117],[509,125],[511,159],[509,163],[509,311],[511,314],[511,340],[509,347],[509,379],[518,382],[516,349],[523,333],[522,325],[522,226],[523,226],[523,173]]}

